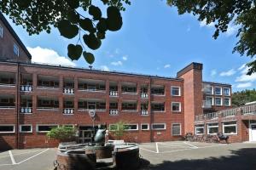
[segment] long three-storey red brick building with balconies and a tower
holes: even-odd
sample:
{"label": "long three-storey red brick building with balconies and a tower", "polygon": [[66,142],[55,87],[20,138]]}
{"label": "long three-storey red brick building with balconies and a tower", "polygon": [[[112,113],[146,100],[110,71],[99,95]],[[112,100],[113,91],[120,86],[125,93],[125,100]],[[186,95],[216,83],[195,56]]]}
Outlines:
{"label": "long three-storey red brick building with balconies and a tower", "polygon": [[[2,27],[2,37],[8,37],[0,37],[0,150],[54,146],[45,134],[61,125],[75,127],[80,143],[91,141],[90,111],[96,112],[95,125],[125,122],[127,141],[177,140],[207,126],[207,115],[201,114],[231,107],[231,86],[203,82],[199,63],[177,77],[32,64],[8,22],[0,19],[0,33]],[[9,48],[14,42],[19,56]],[[248,139],[242,133],[247,122],[236,123],[241,132],[234,138]]]}

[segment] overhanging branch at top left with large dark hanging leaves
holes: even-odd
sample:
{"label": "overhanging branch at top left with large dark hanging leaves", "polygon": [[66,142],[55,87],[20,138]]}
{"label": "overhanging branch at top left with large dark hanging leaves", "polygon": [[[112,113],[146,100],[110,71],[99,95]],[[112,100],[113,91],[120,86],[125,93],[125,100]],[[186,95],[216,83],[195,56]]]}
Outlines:
{"label": "overhanging branch at top left with large dark hanging leaves", "polygon": [[102,3],[108,6],[106,18],[91,0],[2,0],[0,10],[16,25],[26,28],[29,35],[41,31],[50,33],[51,26],[54,26],[63,37],[78,37],[76,44],[67,46],[67,56],[78,60],[83,55],[91,65],[95,57],[88,48],[100,48],[106,31],[119,31],[123,25],[120,11],[125,10],[124,3],[131,4],[129,0],[102,0]]}

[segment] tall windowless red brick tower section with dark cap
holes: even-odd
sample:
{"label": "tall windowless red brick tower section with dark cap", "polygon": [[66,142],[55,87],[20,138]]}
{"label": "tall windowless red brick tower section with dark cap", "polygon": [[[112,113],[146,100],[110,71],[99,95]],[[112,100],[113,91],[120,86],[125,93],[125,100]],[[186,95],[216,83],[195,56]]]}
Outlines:
{"label": "tall windowless red brick tower section with dark cap", "polygon": [[177,72],[177,77],[183,78],[184,94],[184,133],[194,133],[195,115],[202,110],[202,67],[200,63],[191,63]]}

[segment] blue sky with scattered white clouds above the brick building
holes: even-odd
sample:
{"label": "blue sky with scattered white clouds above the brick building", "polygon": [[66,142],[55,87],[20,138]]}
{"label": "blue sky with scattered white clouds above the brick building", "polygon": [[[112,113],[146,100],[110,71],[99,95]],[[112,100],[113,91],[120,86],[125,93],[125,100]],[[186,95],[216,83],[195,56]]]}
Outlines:
{"label": "blue sky with scattered white clouds above the brick building", "polygon": [[[122,16],[122,29],[108,31],[102,47],[93,51],[94,68],[175,77],[184,66],[200,62],[205,81],[230,83],[234,91],[256,87],[256,74],[245,75],[244,64],[250,59],[232,54],[236,26],[230,25],[228,32],[214,40],[212,25],[206,26],[191,14],[178,15],[176,8],[161,0],[132,1]],[[62,58],[67,56],[67,44],[77,38],[67,40],[55,29],[51,34],[29,37],[20,26],[11,25],[29,47],[33,60],[88,67],[82,58],[74,64]]]}

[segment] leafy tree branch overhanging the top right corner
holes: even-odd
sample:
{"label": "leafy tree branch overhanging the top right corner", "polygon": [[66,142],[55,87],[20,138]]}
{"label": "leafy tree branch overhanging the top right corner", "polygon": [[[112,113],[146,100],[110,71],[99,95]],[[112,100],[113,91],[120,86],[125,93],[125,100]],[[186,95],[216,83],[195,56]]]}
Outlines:
{"label": "leafy tree branch overhanging the top right corner", "polygon": [[228,30],[230,24],[239,27],[236,37],[238,42],[233,53],[238,52],[254,59],[248,63],[248,75],[256,73],[256,1],[255,0],[167,0],[170,6],[177,7],[178,14],[190,13],[207,24],[215,24],[213,37]]}

